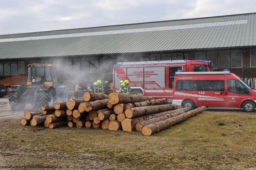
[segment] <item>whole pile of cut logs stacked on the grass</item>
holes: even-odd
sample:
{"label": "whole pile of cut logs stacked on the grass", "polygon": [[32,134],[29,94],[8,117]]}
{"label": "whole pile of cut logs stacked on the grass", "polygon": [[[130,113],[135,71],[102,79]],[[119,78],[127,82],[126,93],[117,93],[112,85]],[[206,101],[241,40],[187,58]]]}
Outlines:
{"label": "whole pile of cut logs stacked on the grass", "polygon": [[98,94],[85,92],[83,100],[69,99],[54,105],[42,105],[41,110],[25,111],[22,125],[93,127],[117,131],[141,131],[152,135],[206,110],[188,111],[167,104],[167,99],[153,100],[141,94]]}

